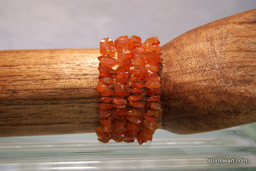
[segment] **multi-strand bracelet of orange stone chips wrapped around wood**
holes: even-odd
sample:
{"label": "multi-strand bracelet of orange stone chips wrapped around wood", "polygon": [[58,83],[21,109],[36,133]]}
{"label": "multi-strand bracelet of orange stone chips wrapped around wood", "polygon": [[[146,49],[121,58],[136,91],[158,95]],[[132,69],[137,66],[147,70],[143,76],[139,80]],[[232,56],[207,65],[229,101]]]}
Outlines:
{"label": "multi-strand bracelet of orange stone chips wrapped around wood", "polygon": [[100,41],[97,90],[102,102],[100,127],[95,129],[99,141],[152,141],[162,114],[159,44],[157,37],[142,44],[138,36],[121,36],[115,43],[109,38]]}

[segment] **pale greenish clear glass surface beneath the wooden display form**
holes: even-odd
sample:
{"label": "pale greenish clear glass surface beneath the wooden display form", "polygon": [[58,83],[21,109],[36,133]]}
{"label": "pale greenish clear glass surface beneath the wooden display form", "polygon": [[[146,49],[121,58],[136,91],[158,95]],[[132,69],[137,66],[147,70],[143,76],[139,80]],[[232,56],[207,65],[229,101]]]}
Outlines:
{"label": "pale greenish clear glass surface beneath the wooden display form", "polygon": [[[0,138],[0,170],[241,170],[256,168],[256,123],[207,133],[157,130],[153,142],[107,144],[94,133]],[[209,158],[247,163],[211,164]]]}

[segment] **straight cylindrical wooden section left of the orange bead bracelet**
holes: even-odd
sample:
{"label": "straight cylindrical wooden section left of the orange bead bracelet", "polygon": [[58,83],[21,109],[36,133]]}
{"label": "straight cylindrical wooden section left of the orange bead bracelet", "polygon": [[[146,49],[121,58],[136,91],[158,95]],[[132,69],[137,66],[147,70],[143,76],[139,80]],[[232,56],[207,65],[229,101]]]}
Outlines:
{"label": "straight cylindrical wooden section left of the orange bead bracelet", "polygon": [[98,56],[99,49],[0,51],[0,136],[94,132]]}

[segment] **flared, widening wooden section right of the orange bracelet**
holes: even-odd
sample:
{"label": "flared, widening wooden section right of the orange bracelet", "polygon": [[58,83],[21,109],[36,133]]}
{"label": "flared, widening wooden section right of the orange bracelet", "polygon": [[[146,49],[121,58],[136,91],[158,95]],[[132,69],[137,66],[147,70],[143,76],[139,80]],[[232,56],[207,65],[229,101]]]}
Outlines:
{"label": "flared, widening wooden section right of the orange bracelet", "polygon": [[189,134],[256,122],[256,10],[162,47],[163,124]]}

